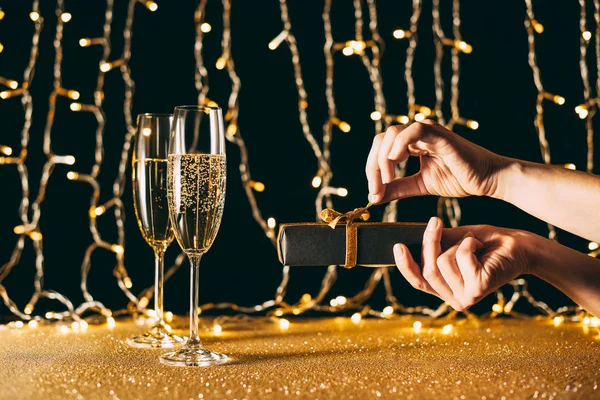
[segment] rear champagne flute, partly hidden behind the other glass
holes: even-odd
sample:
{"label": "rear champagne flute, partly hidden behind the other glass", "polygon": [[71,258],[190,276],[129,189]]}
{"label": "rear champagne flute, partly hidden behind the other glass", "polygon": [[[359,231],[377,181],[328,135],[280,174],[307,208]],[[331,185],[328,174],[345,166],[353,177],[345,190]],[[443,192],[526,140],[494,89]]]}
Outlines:
{"label": "rear champagne flute, partly hidden behind the other glass", "polygon": [[156,324],[146,333],[127,338],[133,347],[174,347],[185,338],[171,333],[163,319],[164,255],[173,241],[167,203],[167,149],[173,116],[141,114],[133,148],[133,203],[142,236],[154,250],[154,312]]}

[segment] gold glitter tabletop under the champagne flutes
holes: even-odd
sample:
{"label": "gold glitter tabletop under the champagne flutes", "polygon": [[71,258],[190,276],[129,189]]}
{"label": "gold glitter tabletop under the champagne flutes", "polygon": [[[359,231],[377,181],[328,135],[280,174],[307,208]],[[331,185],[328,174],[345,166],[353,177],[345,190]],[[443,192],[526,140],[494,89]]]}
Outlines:
{"label": "gold glitter tabletop under the champagne flutes", "polygon": [[132,322],[81,333],[25,325],[0,331],[0,398],[600,398],[597,331],[421,319],[417,332],[415,321],[305,319],[282,330],[258,320],[219,334],[207,325],[204,344],[233,359],[209,368],[129,348],[125,338],[144,329]]}

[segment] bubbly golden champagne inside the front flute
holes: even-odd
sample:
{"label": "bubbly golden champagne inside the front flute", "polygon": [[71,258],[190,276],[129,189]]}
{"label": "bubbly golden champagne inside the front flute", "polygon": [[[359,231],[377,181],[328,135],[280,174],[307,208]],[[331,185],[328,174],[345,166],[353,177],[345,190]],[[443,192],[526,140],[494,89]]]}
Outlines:
{"label": "bubbly golden champagne inside the front flute", "polygon": [[190,256],[208,251],[221,225],[227,167],[224,155],[169,155],[168,200],[177,242]]}

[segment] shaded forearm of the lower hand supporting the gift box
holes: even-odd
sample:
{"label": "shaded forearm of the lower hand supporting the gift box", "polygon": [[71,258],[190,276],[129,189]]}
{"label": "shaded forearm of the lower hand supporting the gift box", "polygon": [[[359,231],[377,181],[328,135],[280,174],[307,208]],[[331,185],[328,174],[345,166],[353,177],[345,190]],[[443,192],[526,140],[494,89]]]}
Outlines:
{"label": "shaded forearm of the lower hand supporting the gift box", "polygon": [[530,269],[588,312],[600,317],[600,260],[532,234]]}

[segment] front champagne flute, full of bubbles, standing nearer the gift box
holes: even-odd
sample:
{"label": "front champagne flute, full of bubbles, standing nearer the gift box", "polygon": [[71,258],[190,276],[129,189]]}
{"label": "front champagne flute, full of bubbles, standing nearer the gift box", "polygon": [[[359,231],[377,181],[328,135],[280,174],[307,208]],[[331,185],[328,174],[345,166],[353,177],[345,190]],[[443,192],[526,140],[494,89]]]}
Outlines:
{"label": "front champagne flute, full of bubbles, standing nearer the gift box", "polygon": [[190,259],[190,335],[178,351],[160,361],[209,366],[229,361],[202,346],[198,336],[198,269],[210,249],[225,203],[225,132],[218,107],[176,107],[169,141],[167,197],[175,238]]}

